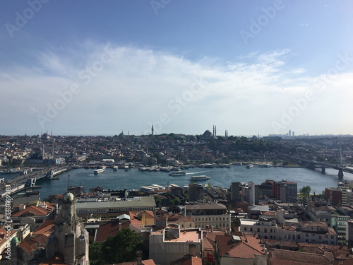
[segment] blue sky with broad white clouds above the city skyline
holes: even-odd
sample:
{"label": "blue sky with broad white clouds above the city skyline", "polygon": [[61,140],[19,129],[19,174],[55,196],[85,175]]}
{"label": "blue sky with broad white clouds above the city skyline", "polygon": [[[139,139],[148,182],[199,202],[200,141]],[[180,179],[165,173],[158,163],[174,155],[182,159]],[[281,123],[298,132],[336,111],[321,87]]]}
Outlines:
{"label": "blue sky with broad white clouds above the city skyline", "polygon": [[0,134],[353,134],[352,8],[0,1]]}

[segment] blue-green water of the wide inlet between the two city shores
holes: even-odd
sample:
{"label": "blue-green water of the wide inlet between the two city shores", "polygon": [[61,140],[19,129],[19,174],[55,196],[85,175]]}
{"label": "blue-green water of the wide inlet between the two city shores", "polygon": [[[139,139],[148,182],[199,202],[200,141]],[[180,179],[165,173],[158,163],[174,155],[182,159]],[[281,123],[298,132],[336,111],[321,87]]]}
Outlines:
{"label": "blue-green water of the wide inlet between the two city shores", "polygon": [[[232,165],[230,168],[191,168],[186,170],[184,176],[169,176],[168,172],[141,172],[136,168],[131,170],[117,170],[107,168],[99,175],[94,175],[93,169],[75,169],[58,175],[55,180],[38,180],[37,184],[42,186],[40,198],[44,199],[50,194],[64,194],[68,187],[68,175],[70,175],[70,186],[85,186],[88,192],[90,187],[101,186],[104,189],[140,189],[141,186],[150,184],[160,184],[166,186],[177,184],[181,187],[189,184],[191,176],[207,175],[208,181],[201,182],[203,185],[210,182],[213,186],[220,186],[229,189],[232,182],[254,182],[261,184],[266,179],[276,181],[287,179],[298,183],[298,189],[309,185],[311,192],[320,194],[325,187],[337,187],[337,170],[326,169],[325,174],[321,170],[309,170],[300,167],[253,167],[246,169],[245,166]],[[13,175],[2,175],[5,179],[14,177]],[[353,175],[345,173],[344,179],[353,180]]]}

